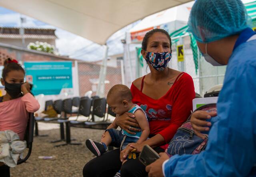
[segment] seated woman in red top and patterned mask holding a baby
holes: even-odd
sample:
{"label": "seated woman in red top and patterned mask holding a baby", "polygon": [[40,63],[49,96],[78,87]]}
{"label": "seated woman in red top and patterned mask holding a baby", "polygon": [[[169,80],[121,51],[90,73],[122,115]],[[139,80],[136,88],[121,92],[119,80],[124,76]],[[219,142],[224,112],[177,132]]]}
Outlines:
{"label": "seated woman in red top and patterned mask holding a baby", "polygon": [[[142,56],[148,63],[150,73],[136,79],[131,86],[133,103],[140,105],[147,114],[150,139],[141,144],[132,143],[121,153],[120,149],[115,149],[92,159],[84,166],[85,177],[113,177],[120,168],[122,177],[146,177],[145,166],[138,159],[130,159],[124,165],[120,159],[126,159],[133,148],[141,152],[145,144],[158,153],[164,152],[178,127],[190,115],[195,97],[194,83],[188,74],[167,67],[172,57],[171,44],[165,30],[154,29],[145,35]],[[134,115],[126,113],[116,119],[117,124],[128,133],[140,131],[134,128],[138,127]]]}

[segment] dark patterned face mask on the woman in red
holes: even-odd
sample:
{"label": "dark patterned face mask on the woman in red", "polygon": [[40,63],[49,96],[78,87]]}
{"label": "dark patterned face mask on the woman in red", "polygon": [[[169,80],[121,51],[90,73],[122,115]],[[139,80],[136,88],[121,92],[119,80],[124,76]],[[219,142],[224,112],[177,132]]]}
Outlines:
{"label": "dark patterned face mask on the woman in red", "polygon": [[171,52],[147,52],[146,55],[146,61],[157,71],[164,71],[171,59]]}

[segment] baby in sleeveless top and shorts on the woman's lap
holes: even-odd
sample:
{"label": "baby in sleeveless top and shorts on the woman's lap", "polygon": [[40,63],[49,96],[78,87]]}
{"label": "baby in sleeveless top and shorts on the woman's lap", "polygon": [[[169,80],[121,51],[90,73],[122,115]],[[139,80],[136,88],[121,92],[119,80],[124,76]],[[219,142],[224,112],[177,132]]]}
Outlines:
{"label": "baby in sleeveless top and shorts on the woman's lap", "polygon": [[[108,145],[120,147],[120,150],[123,150],[129,143],[142,143],[148,138],[150,132],[146,113],[140,106],[132,103],[132,93],[127,86],[121,84],[113,86],[108,92],[107,103],[117,116],[126,112],[133,113],[141,131],[134,132],[136,134],[133,135],[125,130],[117,130],[118,125],[115,119],[103,133],[101,142],[86,140],[86,146],[97,157],[107,151]],[[120,171],[116,174],[116,177],[118,176]]]}

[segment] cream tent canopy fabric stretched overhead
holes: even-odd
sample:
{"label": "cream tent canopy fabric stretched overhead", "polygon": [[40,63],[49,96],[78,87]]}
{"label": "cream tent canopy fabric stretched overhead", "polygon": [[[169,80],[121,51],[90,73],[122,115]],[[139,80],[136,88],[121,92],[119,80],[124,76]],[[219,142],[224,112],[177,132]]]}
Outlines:
{"label": "cream tent canopy fabric stretched overhead", "polygon": [[1,0],[0,6],[105,44],[121,28],[192,0]]}

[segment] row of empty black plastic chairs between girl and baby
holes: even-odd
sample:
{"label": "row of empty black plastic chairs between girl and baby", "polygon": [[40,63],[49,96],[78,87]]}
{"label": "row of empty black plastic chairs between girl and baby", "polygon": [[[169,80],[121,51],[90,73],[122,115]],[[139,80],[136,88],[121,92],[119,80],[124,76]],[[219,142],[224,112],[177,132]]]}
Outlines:
{"label": "row of empty black plastic chairs between girl and baby", "polygon": [[[115,113],[108,108],[107,117],[106,114],[106,98],[99,98],[98,96],[94,96],[92,98],[89,97],[74,97],[69,99],[56,100],[56,101],[46,101],[45,107],[52,105],[54,110],[58,113],[58,117],[35,117],[35,135],[36,136],[46,136],[39,135],[38,133],[38,122],[44,123],[59,123],[60,124],[60,139],[56,141],[51,141],[52,143],[64,141],[64,124],[66,125],[66,143],[72,144],[70,141],[70,127],[83,127],[83,128],[93,128],[93,129],[106,129],[108,125],[112,122],[107,121],[108,114],[112,116],[116,116]],[[77,107],[78,109],[73,110],[72,107]],[[70,121],[68,118],[77,114],[77,118],[74,121]],[[79,121],[78,117],[80,116],[87,117],[86,121]],[[101,121],[94,121],[94,116],[98,116],[101,118]],[[64,145],[65,145],[64,144]],[[59,145],[58,145],[59,146]]]}

